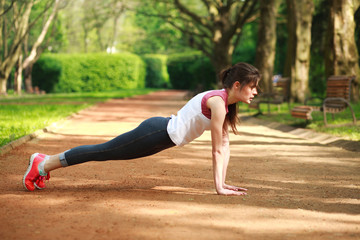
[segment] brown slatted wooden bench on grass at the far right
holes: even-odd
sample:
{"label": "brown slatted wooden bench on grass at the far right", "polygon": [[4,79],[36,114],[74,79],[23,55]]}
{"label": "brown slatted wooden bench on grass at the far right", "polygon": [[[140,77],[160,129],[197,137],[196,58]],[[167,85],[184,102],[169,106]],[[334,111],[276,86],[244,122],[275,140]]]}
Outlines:
{"label": "brown slatted wooden bench on grass at the far right", "polygon": [[[311,113],[314,111],[322,111],[324,114],[324,125],[327,126],[326,113],[339,113],[349,108],[352,113],[353,123],[356,124],[355,113],[350,105],[351,81],[355,76],[331,76],[326,82],[326,98],[322,100],[321,106],[307,105],[294,107],[291,115],[295,118],[312,120]],[[314,99],[314,98],[311,98]]]}

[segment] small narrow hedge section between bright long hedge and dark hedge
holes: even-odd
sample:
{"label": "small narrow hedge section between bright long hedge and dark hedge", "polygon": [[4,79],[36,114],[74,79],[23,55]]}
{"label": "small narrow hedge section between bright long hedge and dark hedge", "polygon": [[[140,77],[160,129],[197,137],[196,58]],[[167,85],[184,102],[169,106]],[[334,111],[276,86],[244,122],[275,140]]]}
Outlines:
{"label": "small narrow hedge section between bright long hedge and dark hedge", "polygon": [[166,66],[167,56],[151,54],[145,55],[143,59],[146,63],[146,87],[169,88],[170,79]]}

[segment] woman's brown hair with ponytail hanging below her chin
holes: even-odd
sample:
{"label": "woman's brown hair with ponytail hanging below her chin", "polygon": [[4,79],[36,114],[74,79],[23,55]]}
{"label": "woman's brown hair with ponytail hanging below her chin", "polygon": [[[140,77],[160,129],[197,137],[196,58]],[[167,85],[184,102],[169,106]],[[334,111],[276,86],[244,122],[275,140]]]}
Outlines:
{"label": "woman's brown hair with ponytail hanging below her chin", "polygon": [[[220,79],[225,89],[231,89],[236,81],[240,83],[240,90],[248,84],[253,84],[254,87],[258,86],[261,74],[259,70],[248,64],[239,62],[232,67],[224,69],[220,73]],[[239,122],[238,103],[230,104],[228,106],[229,112],[226,115],[226,122],[231,126],[231,129],[237,134],[236,124]]]}

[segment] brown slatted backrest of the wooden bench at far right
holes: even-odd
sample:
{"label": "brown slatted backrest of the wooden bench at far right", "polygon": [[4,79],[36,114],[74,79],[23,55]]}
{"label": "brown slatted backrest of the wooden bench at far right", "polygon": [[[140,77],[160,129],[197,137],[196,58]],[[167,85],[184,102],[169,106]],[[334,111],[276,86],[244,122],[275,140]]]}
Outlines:
{"label": "brown slatted backrest of the wooden bench at far right", "polygon": [[[355,76],[331,76],[326,82],[326,98],[343,98],[350,101],[351,81]],[[344,107],[344,102],[330,101],[327,103],[328,107],[341,108]]]}

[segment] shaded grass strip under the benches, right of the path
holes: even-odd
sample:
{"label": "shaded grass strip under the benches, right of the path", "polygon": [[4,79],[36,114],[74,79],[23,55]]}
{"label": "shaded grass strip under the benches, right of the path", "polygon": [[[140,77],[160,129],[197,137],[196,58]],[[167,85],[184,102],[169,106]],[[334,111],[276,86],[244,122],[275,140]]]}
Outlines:
{"label": "shaded grass strip under the benches, right of the path", "polygon": [[[291,104],[290,110],[299,106],[300,104]],[[360,102],[357,104],[352,103],[351,106],[355,112],[355,116],[357,119],[357,124],[352,124],[352,115],[349,109],[337,113],[334,115],[334,119],[332,119],[331,114],[327,114],[327,122],[328,127],[324,126],[324,118],[322,112],[313,112],[312,117],[313,120],[306,122],[306,120],[294,118],[290,114],[289,107],[286,103],[280,105],[280,110],[276,105],[270,105],[270,114],[267,110],[266,104],[261,104],[262,115],[258,115],[257,118],[264,119],[272,122],[279,122],[285,125],[290,125],[294,127],[301,127],[312,129],[316,132],[326,133],[338,137],[342,137],[344,139],[360,141]],[[245,115],[254,115],[257,113],[257,110],[249,109],[247,105],[240,105],[240,112]]]}

